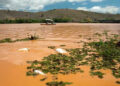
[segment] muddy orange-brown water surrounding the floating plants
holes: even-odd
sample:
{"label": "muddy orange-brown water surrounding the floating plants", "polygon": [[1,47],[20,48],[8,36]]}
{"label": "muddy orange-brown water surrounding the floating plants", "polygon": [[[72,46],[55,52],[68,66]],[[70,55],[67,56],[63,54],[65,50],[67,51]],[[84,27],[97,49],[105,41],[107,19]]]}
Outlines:
{"label": "muddy orange-brown water surrounding the floating plants", "polygon": [[[42,60],[44,56],[56,53],[48,46],[59,48],[60,45],[66,45],[64,48],[80,48],[82,45],[78,42],[86,41],[89,37],[97,39],[93,34],[104,31],[120,34],[120,24],[0,24],[0,40],[21,39],[34,34],[41,38],[36,41],[0,43],[0,86],[45,86],[51,78],[41,82],[42,75],[26,76],[26,61]],[[29,48],[29,51],[21,52],[21,48]],[[81,69],[85,72],[58,75],[59,80],[73,82],[70,86],[119,86],[115,81],[120,79],[115,79],[110,70],[104,70],[106,75],[99,79],[89,75],[89,67],[83,66]]]}

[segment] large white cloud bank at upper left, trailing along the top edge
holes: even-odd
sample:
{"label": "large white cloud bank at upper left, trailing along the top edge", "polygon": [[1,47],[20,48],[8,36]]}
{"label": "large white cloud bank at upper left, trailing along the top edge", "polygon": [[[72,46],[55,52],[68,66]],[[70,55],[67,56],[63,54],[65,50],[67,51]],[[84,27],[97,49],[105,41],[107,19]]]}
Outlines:
{"label": "large white cloud bank at upper left, trailing along the top edge", "polygon": [[59,2],[100,2],[103,0],[0,0],[0,9],[39,11],[45,6]]}

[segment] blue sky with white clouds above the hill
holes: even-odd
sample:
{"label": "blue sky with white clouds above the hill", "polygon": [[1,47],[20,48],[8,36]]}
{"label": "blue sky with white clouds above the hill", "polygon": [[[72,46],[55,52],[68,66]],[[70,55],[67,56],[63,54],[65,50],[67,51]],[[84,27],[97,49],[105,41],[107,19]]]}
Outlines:
{"label": "blue sky with white clouds above the hill", "polygon": [[75,9],[120,14],[120,0],[0,0],[0,9],[39,12]]}

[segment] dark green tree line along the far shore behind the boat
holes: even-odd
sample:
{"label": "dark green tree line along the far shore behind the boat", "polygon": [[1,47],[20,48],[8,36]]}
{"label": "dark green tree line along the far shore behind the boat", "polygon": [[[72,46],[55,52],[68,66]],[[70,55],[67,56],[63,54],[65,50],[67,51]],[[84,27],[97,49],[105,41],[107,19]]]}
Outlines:
{"label": "dark green tree line along the far shore behind the boat", "polygon": [[[56,23],[67,23],[67,22],[77,22],[77,23],[120,23],[120,20],[115,19],[91,19],[85,18],[79,21],[74,21],[72,18],[53,18]],[[5,19],[0,20],[0,24],[11,24],[11,23],[45,23],[45,19]]]}

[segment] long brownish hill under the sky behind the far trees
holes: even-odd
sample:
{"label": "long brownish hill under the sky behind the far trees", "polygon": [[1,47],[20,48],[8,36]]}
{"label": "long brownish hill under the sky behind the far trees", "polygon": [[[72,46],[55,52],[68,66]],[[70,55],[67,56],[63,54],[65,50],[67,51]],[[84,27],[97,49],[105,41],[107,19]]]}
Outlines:
{"label": "long brownish hill under the sky behind the far trees", "polygon": [[79,22],[83,19],[92,20],[114,19],[120,20],[120,14],[103,14],[73,9],[54,9],[43,12],[23,12],[0,10],[0,20],[4,19],[45,19],[45,18],[71,18],[73,22]]}

